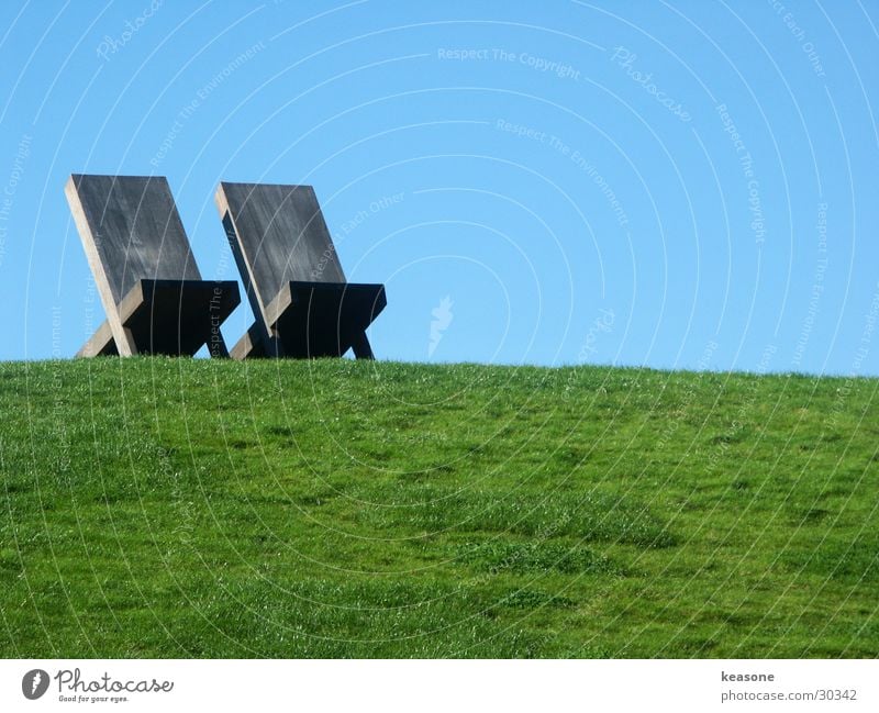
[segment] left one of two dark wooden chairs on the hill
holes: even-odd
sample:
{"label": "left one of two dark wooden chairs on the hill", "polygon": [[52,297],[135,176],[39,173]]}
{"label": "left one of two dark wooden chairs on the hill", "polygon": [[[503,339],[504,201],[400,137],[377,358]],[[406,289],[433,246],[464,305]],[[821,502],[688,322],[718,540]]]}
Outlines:
{"label": "left one of two dark wooden chairs on the hill", "polygon": [[75,174],[65,193],[107,313],[77,356],[229,356],[238,283],[201,279],[166,178]]}

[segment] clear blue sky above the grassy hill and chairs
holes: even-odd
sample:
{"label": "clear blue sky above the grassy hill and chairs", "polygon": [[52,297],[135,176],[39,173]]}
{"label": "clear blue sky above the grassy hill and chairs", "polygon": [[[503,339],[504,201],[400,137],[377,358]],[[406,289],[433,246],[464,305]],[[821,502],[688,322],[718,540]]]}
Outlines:
{"label": "clear blue sky above the grassy hill and chairs", "polygon": [[866,0],[5,1],[0,358],[102,319],[67,176],[156,174],[207,279],[237,277],[219,180],[313,185],[348,279],[387,285],[379,358],[877,375],[877,25]]}

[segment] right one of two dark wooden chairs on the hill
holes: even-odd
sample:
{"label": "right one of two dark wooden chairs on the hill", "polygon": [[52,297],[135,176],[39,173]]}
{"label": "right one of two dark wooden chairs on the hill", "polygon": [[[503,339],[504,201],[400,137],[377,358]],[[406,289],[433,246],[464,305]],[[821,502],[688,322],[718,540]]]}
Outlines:
{"label": "right one of two dark wooden chairs on the hill", "polygon": [[216,207],[256,315],[233,358],[374,358],[385,286],[345,279],[311,186],[221,182]]}

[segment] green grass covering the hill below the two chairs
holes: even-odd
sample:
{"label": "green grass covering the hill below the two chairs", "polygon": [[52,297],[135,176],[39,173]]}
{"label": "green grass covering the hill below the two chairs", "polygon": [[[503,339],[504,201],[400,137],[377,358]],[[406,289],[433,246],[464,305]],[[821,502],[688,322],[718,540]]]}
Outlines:
{"label": "green grass covering the hill below the two chairs", "polygon": [[878,388],[0,364],[0,655],[874,657]]}

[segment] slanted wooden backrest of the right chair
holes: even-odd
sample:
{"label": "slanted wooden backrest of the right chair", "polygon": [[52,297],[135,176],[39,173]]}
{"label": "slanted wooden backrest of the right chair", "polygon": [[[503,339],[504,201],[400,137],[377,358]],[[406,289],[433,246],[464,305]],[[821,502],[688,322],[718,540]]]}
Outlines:
{"label": "slanted wooden backrest of the right chair", "polygon": [[216,207],[245,287],[263,309],[291,281],[346,281],[311,186],[224,181]]}

